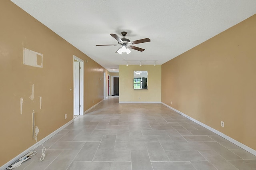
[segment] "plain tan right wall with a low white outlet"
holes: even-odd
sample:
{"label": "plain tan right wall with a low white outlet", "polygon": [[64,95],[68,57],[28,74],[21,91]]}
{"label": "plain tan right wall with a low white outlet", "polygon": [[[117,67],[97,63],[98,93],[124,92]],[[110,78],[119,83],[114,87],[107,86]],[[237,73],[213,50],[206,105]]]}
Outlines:
{"label": "plain tan right wall with a low white outlet", "polygon": [[255,73],[256,15],[164,63],[162,102],[256,150]]}

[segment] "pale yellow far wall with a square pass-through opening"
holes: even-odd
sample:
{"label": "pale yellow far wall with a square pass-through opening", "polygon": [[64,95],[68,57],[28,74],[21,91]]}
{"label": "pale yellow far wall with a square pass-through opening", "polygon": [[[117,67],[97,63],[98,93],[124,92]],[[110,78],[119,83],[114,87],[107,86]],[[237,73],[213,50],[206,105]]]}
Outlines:
{"label": "pale yellow far wall with a square pass-through opening", "polygon": [[[147,90],[133,89],[134,70],[148,71]],[[119,65],[119,102],[161,102],[161,65]]]}

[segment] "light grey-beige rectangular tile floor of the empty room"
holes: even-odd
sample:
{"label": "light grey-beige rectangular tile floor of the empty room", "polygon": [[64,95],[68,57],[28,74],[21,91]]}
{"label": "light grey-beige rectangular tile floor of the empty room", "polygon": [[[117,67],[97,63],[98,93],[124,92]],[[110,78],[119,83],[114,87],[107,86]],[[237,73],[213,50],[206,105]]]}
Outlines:
{"label": "light grey-beige rectangular tile floor of the empty room", "polygon": [[110,97],[15,170],[255,170],[256,156],[160,103]]}

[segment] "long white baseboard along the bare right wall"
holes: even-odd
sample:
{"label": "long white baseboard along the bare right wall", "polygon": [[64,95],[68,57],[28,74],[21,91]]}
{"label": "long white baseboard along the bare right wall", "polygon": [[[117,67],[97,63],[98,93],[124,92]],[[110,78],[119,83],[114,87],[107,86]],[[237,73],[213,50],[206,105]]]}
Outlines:
{"label": "long white baseboard along the bare right wall", "polygon": [[200,121],[197,121],[196,119],[193,119],[192,117],[189,117],[188,115],[178,111],[177,109],[174,109],[173,107],[170,107],[169,105],[166,105],[165,103],[162,102],[163,105],[165,105],[166,107],[169,107],[170,109],[172,109],[173,111],[176,111],[177,113],[179,113],[180,115],[190,119],[191,121],[201,125],[202,127],[205,127],[207,128],[208,130],[211,130],[212,132],[220,135],[221,137],[225,138],[226,140],[236,144],[237,146],[239,146],[240,148],[243,148],[244,150],[246,150],[247,152],[250,152],[251,154],[255,155],[256,156],[256,150],[246,146],[245,144],[242,144],[241,142],[238,142],[237,140],[234,140],[233,138],[230,138],[229,136],[227,136],[226,134],[212,128],[212,127],[209,127],[208,125],[205,125],[204,123],[200,122]]}

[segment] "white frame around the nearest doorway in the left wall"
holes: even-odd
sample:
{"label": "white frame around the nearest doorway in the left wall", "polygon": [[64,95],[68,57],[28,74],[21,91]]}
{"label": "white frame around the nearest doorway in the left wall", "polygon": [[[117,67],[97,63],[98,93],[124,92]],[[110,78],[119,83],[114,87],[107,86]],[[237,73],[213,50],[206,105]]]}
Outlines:
{"label": "white frame around the nearest doorway in the left wall", "polygon": [[84,115],[84,60],[73,55],[73,119],[74,119],[74,60],[80,62],[80,115]]}

